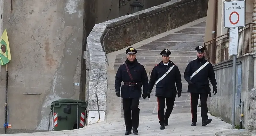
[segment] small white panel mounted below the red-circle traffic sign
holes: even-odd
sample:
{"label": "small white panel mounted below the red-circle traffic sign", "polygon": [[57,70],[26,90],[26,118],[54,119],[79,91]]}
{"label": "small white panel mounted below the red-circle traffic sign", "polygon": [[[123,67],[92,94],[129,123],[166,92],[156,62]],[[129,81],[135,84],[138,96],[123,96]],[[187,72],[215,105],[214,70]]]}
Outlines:
{"label": "small white panel mounted below the red-circle traffic sign", "polygon": [[229,30],[229,55],[236,55],[238,47],[238,27]]}

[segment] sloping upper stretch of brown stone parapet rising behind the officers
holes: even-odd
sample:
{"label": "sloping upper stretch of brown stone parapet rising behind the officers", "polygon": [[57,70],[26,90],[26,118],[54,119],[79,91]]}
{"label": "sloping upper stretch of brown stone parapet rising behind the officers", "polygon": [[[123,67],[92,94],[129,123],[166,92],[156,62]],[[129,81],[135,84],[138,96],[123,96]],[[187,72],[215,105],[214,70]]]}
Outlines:
{"label": "sloping upper stretch of brown stone parapet rising behind the officers", "polygon": [[106,21],[113,22],[112,26],[108,25],[109,31],[104,39],[106,51],[111,53],[120,50],[203,18],[207,14],[207,7],[208,0],[172,0],[131,15]]}

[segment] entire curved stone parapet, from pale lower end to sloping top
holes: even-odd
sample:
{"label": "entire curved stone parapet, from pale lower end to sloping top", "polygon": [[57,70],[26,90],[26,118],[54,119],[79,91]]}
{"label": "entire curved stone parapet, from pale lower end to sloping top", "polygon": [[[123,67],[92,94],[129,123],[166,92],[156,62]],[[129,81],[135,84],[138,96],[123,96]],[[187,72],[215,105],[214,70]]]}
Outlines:
{"label": "entire curved stone parapet, from pale lower end to sloping top", "polygon": [[99,120],[96,100],[97,86],[100,120],[105,119],[107,99],[106,52],[110,53],[162,32],[206,16],[208,0],[172,0],[130,15],[96,24],[86,44],[86,100],[88,124]]}

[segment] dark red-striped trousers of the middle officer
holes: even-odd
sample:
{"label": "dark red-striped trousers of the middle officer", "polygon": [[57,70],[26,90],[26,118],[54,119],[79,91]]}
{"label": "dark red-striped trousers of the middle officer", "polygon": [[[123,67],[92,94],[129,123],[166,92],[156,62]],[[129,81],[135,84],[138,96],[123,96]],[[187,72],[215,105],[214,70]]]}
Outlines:
{"label": "dark red-striped trousers of the middle officer", "polygon": [[[165,108],[165,100],[166,100],[166,111],[164,114]],[[164,123],[168,121],[170,117],[174,105],[175,97],[173,98],[166,98],[166,97],[157,97],[157,104],[158,104],[158,119],[160,125],[164,125]]]}

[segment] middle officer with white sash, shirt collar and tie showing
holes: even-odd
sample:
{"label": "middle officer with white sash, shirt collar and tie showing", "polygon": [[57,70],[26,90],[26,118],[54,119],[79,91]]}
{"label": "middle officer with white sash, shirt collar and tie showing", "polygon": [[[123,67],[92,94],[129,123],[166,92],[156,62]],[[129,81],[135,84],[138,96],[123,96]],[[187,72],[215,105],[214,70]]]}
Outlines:
{"label": "middle officer with white sash, shirt collar and tie showing", "polygon": [[[170,61],[171,52],[168,49],[164,49],[161,53],[162,60],[157,64],[151,72],[149,80],[149,92],[156,84],[156,97],[158,103],[158,119],[160,123],[160,129],[165,129],[165,125],[168,125],[168,118],[170,117],[177,95],[176,86],[178,90],[178,97],[181,96],[181,75],[179,68]],[[176,86],[175,86],[176,83]],[[164,113],[166,100],[166,112]]]}

